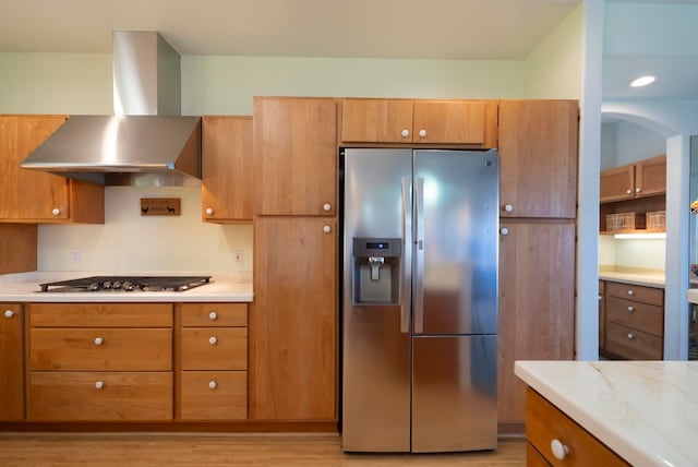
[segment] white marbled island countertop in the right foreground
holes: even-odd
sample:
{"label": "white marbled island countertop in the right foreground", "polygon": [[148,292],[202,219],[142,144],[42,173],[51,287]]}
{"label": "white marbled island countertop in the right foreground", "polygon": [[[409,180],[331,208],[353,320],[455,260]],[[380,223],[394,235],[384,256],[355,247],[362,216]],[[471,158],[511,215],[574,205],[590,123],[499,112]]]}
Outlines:
{"label": "white marbled island countertop in the right foreground", "polygon": [[698,361],[517,361],[515,373],[634,466],[698,463]]}

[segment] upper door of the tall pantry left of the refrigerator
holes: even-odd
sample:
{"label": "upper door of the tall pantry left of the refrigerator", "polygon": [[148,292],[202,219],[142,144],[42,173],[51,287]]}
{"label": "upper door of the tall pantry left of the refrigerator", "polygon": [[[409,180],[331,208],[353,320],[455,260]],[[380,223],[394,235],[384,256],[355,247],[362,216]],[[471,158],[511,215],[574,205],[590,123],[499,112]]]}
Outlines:
{"label": "upper door of the tall pantry left of the refrigerator", "polygon": [[254,98],[256,214],[336,213],[335,107],[324,98]]}

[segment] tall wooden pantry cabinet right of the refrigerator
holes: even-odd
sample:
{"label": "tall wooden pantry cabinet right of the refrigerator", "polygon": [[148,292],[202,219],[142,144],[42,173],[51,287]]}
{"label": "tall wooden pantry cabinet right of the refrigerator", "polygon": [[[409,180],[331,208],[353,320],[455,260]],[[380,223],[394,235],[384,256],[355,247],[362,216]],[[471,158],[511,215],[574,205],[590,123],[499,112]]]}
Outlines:
{"label": "tall wooden pantry cabinet right of the refrigerator", "polygon": [[[521,423],[515,360],[571,360],[578,104],[500,104],[500,423]],[[513,429],[516,430],[516,428]]]}

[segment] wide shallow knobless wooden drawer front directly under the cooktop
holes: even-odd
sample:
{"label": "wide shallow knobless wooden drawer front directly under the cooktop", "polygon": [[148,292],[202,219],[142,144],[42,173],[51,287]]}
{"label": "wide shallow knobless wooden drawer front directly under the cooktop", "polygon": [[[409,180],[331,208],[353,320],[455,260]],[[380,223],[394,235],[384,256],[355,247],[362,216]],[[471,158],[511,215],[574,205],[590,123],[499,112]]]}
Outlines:
{"label": "wide shallow knobless wooden drawer front directly under the cooktop", "polygon": [[33,327],[172,327],[168,303],[32,303]]}

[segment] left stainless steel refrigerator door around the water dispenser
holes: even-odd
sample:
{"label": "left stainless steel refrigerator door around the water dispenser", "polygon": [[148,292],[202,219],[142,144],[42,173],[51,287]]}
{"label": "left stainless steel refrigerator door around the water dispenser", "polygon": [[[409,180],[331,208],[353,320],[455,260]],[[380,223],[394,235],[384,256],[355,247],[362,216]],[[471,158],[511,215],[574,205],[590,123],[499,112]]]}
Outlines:
{"label": "left stainless steel refrigerator door around the water dispenser", "polygon": [[[410,300],[409,294],[407,299],[404,294],[409,288],[401,286],[401,306],[353,306],[351,268],[353,238],[400,238],[408,241],[411,234],[411,149],[345,152],[345,451],[410,450]],[[404,248],[401,259],[407,280],[411,267],[410,252],[409,246]]]}

